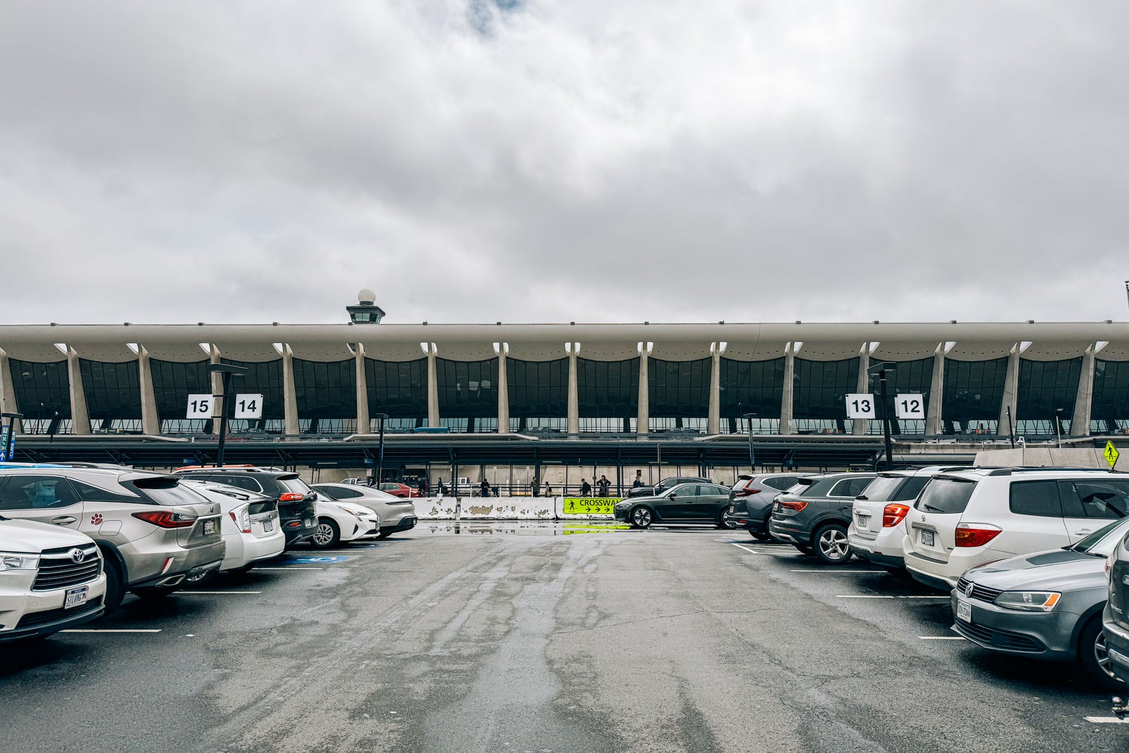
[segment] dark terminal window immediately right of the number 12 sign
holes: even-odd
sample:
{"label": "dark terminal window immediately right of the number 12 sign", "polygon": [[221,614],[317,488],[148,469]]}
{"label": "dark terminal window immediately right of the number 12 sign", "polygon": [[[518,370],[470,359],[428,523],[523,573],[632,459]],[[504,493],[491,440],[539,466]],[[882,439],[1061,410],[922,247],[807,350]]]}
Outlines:
{"label": "dark terminal window immediately right of the number 12 sign", "polygon": [[1004,401],[1007,357],[987,361],[945,359],[945,434],[995,432]]}

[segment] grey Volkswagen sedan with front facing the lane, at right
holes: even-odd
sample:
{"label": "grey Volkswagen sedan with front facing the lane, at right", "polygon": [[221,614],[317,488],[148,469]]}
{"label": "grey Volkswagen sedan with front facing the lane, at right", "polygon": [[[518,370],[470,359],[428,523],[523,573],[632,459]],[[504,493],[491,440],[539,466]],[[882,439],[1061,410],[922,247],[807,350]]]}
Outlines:
{"label": "grey Volkswagen sedan with front facing the lane, at right", "polygon": [[953,627],[982,648],[1077,662],[1091,681],[1112,684],[1105,562],[1127,533],[1129,517],[1062,549],[972,568],[952,593]]}

